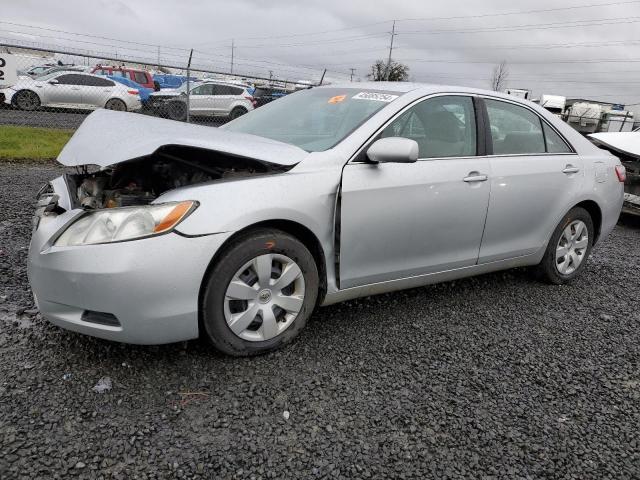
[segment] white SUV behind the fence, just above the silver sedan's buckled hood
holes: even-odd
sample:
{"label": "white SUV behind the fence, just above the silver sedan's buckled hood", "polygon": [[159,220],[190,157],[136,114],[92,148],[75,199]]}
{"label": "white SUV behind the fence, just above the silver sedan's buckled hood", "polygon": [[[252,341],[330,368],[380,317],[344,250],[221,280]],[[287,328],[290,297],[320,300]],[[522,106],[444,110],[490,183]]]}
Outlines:
{"label": "white SUV behind the fence, just above the silver sedan's buckled hood", "polygon": [[[248,86],[234,83],[203,81],[190,88],[189,114],[200,117],[235,119],[255,108]],[[149,107],[158,115],[172,120],[187,116],[187,84],[175,90],[160,90],[149,98]]]}

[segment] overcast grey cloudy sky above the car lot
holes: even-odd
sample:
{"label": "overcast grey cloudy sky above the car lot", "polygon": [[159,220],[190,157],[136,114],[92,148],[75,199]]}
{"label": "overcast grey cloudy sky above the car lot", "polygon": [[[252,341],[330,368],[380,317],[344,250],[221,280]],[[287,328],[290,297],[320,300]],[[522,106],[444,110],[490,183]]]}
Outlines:
{"label": "overcast grey cloudy sky above the car lot", "polygon": [[20,0],[3,2],[0,41],[152,61],[160,45],[163,62],[179,65],[194,48],[194,63],[228,70],[233,38],[239,73],[317,81],[326,67],[329,80],[348,80],[355,68],[366,79],[388,55],[393,19],[393,58],[412,80],[488,88],[505,60],[507,86],[536,97],[640,103],[640,1]]}

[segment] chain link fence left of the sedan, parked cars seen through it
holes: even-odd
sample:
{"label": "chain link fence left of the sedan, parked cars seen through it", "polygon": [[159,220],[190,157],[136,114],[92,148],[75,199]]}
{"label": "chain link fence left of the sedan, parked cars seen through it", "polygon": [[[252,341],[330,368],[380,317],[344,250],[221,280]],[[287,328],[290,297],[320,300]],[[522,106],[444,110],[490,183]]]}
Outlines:
{"label": "chain link fence left of the sedan, parked cars seen through it", "polygon": [[75,129],[106,108],[218,126],[312,81],[0,43],[0,124]]}

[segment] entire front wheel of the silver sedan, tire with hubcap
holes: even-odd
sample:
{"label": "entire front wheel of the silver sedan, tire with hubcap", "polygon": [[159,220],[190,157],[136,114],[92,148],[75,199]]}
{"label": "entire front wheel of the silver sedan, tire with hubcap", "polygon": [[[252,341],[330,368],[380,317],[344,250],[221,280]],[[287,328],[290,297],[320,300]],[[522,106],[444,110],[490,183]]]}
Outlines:
{"label": "entire front wheel of the silver sedan, tire with hubcap", "polygon": [[[260,278],[259,271],[268,274]],[[287,275],[278,288],[283,272]],[[232,282],[241,287],[241,293],[230,290]],[[266,284],[268,288],[264,288]],[[276,350],[306,325],[316,304],[318,285],[316,263],[300,241],[279,230],[249,232],[225,248],[204,280],[202,332],[216,349],[228,355],[252,356]]]}

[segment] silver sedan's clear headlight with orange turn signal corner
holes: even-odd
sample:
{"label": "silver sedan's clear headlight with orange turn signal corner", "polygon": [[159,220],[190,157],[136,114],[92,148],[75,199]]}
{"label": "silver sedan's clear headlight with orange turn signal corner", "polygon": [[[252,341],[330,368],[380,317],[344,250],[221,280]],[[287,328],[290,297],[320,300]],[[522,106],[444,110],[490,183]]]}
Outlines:
{"label": "silver sedan's clear headlight with orange turn signal corner", "polygon": [[196,202],[172,202],[97,210],[73,222],[55,245],[95,245],[159,235],[173,230],[197,206]]}

